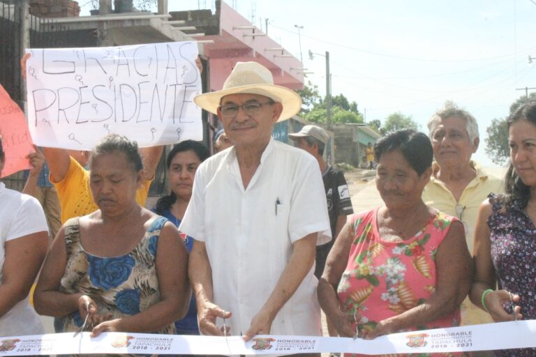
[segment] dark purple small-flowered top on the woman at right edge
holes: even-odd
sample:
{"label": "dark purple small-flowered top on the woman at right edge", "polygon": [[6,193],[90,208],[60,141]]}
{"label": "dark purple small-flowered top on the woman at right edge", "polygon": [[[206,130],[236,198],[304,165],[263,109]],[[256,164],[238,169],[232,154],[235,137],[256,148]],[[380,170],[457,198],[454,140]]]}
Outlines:
{"label": "dark purple small-flowered top on the woman at right edge", "polygon": [[[519,201],[508,207],[496,195],[489,195],[492,203],[488,218],[491,259],[495,267],[499,289],[519,295],[523,319],[536,319],[536,227]],[[507,303],[506,310],[512,312]],[[536,356],[536,349],[508,349],[495,351],[496,356]]]}

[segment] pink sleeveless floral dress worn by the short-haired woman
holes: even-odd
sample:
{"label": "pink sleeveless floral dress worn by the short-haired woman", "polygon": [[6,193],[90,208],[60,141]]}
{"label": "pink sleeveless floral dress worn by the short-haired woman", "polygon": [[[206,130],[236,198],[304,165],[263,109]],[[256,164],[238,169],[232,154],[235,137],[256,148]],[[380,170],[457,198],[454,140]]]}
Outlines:
{"label": "pink sleeveless floral dress worn by the short-haired woman", "polygon": [[[350,248],[348,265],[337,289],[341,309],[350,315],[362,315],[357,326],[354,326],[359,334],[372,331],[383,319],[424,303],[434,293],[435,255],[447,236],[450,225],[457,221],[452,216],[436,211],[415,236],[405,241],[392,242],[384,241],[378,233],[377,215],[378,208],[375,208],[357,213],[350,220],[354,241]],[[453,327],[459,326],[459,322],[460,311],[457,309],[429,324],[404,331]]]}

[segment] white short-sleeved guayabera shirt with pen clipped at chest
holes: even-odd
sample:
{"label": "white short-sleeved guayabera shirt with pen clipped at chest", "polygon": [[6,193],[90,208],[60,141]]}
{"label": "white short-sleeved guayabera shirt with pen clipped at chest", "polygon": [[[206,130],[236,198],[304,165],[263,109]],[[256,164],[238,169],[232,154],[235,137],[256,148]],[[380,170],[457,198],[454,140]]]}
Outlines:
{"label": "white short-sleeved guayabera shirt with pen clipped at chest", "polygon": [[[232,335],[245,333],[274,290],[292,244],[318,233],[331,237],[318,162],[271,139],[244,189],[234,148],[203,162],[180,231],[205,243],[214,303],[232,317]],[[314,266],[271,324],[275,335],[321,335]],[[218,321],[218,326],[222,322]]]}

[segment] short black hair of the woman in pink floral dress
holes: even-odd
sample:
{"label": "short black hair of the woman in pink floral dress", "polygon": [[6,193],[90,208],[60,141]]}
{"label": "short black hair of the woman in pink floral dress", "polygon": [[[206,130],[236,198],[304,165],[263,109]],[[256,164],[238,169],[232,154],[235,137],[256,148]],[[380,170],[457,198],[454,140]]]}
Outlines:
{"label": "short black hair of the woman in pink floral dress", "polygon": [[382,137],[374,144],[376,161],[383,154],[399,150],[411,168],[421,176],[432,166],[433,148],[429,137],[413,129],[401,129]]}

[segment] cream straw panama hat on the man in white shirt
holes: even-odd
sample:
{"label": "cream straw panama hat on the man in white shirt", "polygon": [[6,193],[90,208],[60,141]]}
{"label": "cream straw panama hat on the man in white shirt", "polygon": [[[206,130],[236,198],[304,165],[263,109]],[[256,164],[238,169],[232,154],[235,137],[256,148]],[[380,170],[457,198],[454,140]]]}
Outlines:
{"label": "cream straw panama hat on the man in white shirt", "polygon": [[283,112],[278,121],[289,119],[301,109],[299,94],[284,86],[276,86],[268,68],[257,62],[237,62],[221,91],[200,94],[193,101],[208,112],[218,114],[221,98],[240,93],[258,94],[281,102]]}

